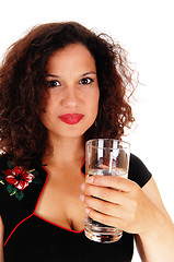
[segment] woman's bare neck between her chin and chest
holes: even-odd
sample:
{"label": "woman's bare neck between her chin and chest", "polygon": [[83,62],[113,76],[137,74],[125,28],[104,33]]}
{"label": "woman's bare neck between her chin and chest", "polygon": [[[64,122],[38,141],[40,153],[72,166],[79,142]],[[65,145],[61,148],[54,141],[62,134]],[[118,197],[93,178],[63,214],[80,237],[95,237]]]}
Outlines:
{"label": "woman's bare neck between her chin and chest", "polygon": [[49,140],[51,152],[47,151],[43,163],[47,165],[66,165],[68,163],[83,162],[84,142],[83,138],[63,138]]}

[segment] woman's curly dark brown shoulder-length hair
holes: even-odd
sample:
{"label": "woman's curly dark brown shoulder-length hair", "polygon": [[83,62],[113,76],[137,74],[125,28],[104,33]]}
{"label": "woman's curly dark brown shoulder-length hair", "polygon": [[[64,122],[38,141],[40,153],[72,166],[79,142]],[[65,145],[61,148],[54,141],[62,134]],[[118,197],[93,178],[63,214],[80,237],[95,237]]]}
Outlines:
{"label": "woman's curly dark brown shoulder-length hair", "polygon": [[47,148],[47,130],[39,118],[47,62],[59,48],[76,43],[94,57],[100,86],[98,114],[84,141],[120,139],[134,121],[127,97],[128,86],[134,91],[134,71],[126,51],[106,34],[76,22],[38,25],[10,47],[0,68],[0,148],[14,165],[40,165]]}

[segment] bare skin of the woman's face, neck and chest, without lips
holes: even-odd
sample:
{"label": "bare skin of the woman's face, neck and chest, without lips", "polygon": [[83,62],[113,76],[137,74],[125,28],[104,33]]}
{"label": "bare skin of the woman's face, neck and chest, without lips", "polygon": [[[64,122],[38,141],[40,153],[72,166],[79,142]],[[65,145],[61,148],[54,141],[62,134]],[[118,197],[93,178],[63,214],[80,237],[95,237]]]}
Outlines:
{"label": "bare skin of the woman's face, neck and chest, without lips", "polygon": [[[83,133],[97,115],[100,91],[95,61],[88,49],[69,45],[48,61],[48,99],[40,118],[48,130],[53,148],[45,154],[49,174],[36,214],[68,229],[82,230],[84,205],[80,202],[80,184],[84,181],[80,167],[84,160]],[[77,124],[67,124],[60,115],[84,115]],[[76,181],[76,182],[74,182]]]}

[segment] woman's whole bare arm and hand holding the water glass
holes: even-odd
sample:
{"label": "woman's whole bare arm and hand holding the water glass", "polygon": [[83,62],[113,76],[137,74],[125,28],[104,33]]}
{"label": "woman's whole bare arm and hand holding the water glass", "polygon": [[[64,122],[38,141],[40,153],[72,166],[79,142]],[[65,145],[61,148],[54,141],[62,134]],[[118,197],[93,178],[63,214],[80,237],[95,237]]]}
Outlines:
{"label": "woman's whole bare arm and hand holding the water glass", "polygon": [[125,178],[93,176],[86,177],[81,189],[80,198],[90,217],[136,234],[142,261],[173,260],[174,226],[153,178],[141,189]]}

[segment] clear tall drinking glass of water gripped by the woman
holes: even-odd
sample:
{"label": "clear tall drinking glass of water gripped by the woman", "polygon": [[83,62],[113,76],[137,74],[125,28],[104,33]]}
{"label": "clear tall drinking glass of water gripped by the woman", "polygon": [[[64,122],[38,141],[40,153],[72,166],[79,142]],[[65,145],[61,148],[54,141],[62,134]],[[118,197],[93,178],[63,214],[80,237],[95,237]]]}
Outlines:
{"label": "clear tall drinking glass of water gripped by the woman", "polygon": [[[86,176],[119,176],[128,178],[130,144],[114,139],[95,139],[85,144]],[[85,217],[85,236],[97,242],[115,242],[123,236],[119,228]]]}

